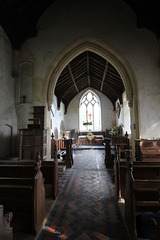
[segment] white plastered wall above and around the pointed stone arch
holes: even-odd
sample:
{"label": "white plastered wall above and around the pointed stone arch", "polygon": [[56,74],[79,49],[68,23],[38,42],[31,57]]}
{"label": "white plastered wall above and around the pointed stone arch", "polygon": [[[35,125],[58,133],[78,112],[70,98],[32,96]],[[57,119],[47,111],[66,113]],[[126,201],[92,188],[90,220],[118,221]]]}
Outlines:
{"label": "white plastered wall above and around the pointed stone arch", "polygon": [[[21,61],[28,60],[29,53],[35,59],[34,105],[46,104],[48,82],[54,79],[50,70],[54,69],[55,59],[75,40],[91,36],[106,42],[127,60],[138,86],[133,103],[138,103],[138,115],[131,114],[131,119],[139,118],[141,137],[160,137],[157,131],[160,119],[159,43],[152,32],[137,28],[133,11],[123,1],[60,0],[45,12],[37,27],[37,37],[28,40],[21,49]],[[56,84],[57,79],[54,80]]]}

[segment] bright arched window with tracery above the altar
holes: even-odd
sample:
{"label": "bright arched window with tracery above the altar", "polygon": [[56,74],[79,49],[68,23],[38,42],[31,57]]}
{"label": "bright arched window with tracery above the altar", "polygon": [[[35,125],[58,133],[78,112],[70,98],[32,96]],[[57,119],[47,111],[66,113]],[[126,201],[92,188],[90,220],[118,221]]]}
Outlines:
{"label": "bright arched window with tracery above the altar", "polygon": [[101,106],[98,96],[91,90],[80,99],[79,104],[80,131],[101,130]]}

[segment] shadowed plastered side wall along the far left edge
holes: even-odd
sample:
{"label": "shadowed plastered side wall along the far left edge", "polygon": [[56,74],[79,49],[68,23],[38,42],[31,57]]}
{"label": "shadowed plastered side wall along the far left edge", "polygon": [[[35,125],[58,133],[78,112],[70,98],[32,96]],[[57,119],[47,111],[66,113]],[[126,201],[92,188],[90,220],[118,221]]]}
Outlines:
{"label": "shadowed plastered side wall along the far left edge", "polygon": [[0,27],[0,158],[16,154],[17,116],[14,105],[12,48]]}

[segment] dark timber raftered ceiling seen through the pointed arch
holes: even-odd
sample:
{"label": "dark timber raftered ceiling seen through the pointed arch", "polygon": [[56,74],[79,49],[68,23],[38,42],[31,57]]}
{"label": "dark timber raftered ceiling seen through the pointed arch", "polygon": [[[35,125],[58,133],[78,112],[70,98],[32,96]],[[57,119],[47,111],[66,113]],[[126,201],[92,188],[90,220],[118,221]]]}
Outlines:
{"label": "dark timber raftered ceiling seen through the pointed arch", "polygon": [[110,62],[90,51],[79,54],[63,69],[55,94],[67,111],[70,101],[88,87],[104,94],[113,106],[118,99],[122,101],[124,84],[119,73]]}

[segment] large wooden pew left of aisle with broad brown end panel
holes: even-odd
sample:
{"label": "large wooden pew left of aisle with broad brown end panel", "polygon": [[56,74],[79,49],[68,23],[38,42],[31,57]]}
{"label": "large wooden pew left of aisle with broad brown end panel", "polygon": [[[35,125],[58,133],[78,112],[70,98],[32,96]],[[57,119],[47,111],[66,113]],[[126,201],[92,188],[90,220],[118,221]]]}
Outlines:
{"label": "large wooden pew left of aisle with broad brown end panel", "polygon": [[37,233],[45,218],[45,189],[39,161],[0,161],[0,203],[13,212],[15,230]]}

